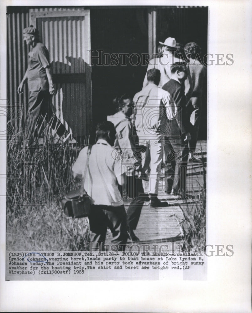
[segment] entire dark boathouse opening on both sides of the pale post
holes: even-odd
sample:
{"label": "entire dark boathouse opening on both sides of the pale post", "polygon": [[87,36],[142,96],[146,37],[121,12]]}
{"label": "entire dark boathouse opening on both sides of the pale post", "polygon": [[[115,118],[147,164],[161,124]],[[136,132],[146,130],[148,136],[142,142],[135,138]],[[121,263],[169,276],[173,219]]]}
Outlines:
{"label": "entire dark boathouse opening on both sides of the pale post", "polygon": [[[93,56],[100,54],[101,65],[97,59],[92,59],[92,125],[95,129],[100,121],[105,121],[107,115],[115,113],[113,98],[127,92],[134,96],[142,89],[144,75],[147,70],[140,62],[137,66],[130,64],[122,56],[119,64],[106,64],[105,54],[148,54],[148,13],[156,10],[156,46],[167,37],[185,45],[197,42],[202,48],[202,55],[207,53],[207,7],[176,8],[176,7],[123,7],[123,8],[91,8],[91,49]],[[156,51],[157,52],[157,51]],[[135,59],[133,59],[136,62]],[[109,62],[108,62],[109,63]],[[198,139],[207,138],[207,84],[202,96],[202,116]]]}

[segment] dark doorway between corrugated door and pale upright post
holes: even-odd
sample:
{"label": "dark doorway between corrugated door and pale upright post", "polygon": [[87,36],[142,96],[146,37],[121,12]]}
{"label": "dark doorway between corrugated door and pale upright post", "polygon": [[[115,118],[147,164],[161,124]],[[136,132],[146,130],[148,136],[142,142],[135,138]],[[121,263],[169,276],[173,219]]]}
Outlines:
{"label": "dark doorway between corrugated door and pale upright post", "polygon": [[[104,53],[143,54],[148,53],[148,8],[97,8],[90,10],[91,49],[97,56],[102,51],[102,64],[106,63]],[[133,63],[139,63],[133,58]],[[131,65],[125,57],[122,64],[92,66],[92,111],[93,128],[107,115],[115,113],[113,98],[123,92],[134,96],[142,89],[146,66]]]}

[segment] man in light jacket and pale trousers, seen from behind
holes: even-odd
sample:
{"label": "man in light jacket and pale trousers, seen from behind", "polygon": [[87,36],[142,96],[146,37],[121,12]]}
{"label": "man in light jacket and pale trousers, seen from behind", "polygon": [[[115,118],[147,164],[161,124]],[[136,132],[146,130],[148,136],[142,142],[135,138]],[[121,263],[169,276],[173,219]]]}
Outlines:
{"label": "man in light jacket and pale trousers, seen from behind", "polygon": [[158,87],[160,70],[147,71],[148,85],[134,98],[135,128],[139,144],[146,147],[142,160],[143,172],[149,176],[149,187],[145,190],[150,195],[151,207],[167,206],[158,196],[158,182],[162,162],[162,146],[167,128],[167,120],[172,118],[170,94]]}

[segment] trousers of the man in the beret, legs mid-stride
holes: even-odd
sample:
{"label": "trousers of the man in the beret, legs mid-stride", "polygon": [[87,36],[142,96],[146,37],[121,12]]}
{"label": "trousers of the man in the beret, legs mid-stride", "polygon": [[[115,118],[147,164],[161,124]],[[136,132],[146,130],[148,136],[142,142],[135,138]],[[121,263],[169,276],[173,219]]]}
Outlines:
{"label": "trousers of the man in the beret, legs mid-stride", "polygon": [[43,121],[46,121],[50,127],[56,129],[59,136],[64,135],[66,128],[52,112],[49,90],[30,91],[28,116],[25,126],[25,136],[28,140],[33,138],[32,134],[35,137],[41,134]]}

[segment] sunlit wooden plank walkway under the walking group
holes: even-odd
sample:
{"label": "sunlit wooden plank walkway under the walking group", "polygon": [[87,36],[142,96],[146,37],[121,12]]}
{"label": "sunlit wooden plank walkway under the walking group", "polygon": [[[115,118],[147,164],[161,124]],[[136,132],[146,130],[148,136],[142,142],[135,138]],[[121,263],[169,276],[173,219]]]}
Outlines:
{"label": "sunlit wooden plank walkway under the walking group", "polygon": [[[188,199],[180,200],[178,198],[168,197],[163,191],[164,179],[159,182],[159,199],[167,201],[168,207],[150,208],[149,203],[146,202],[142,208],[141,216],[137,229],[134,231],[136,236],[140,239],[139,244],[168,244],[171,241],[180,241],[181,230],[179,223],[183,220],[183,213],[181,206],[190,206],[197,201],[198,193],[203,181],[203,167],[206,171],[206,141],[198,141],[197,149],[202,151],[202,162],[188,162],[187,167],[187,194]],[[129,200],[125,201],[125,208],[127,210]],[[108,233],[107,244],[112,239],[111,233]],[[128,244],[132,242],[128,240]],[[137,250],[137,249],[136,249]]]}

